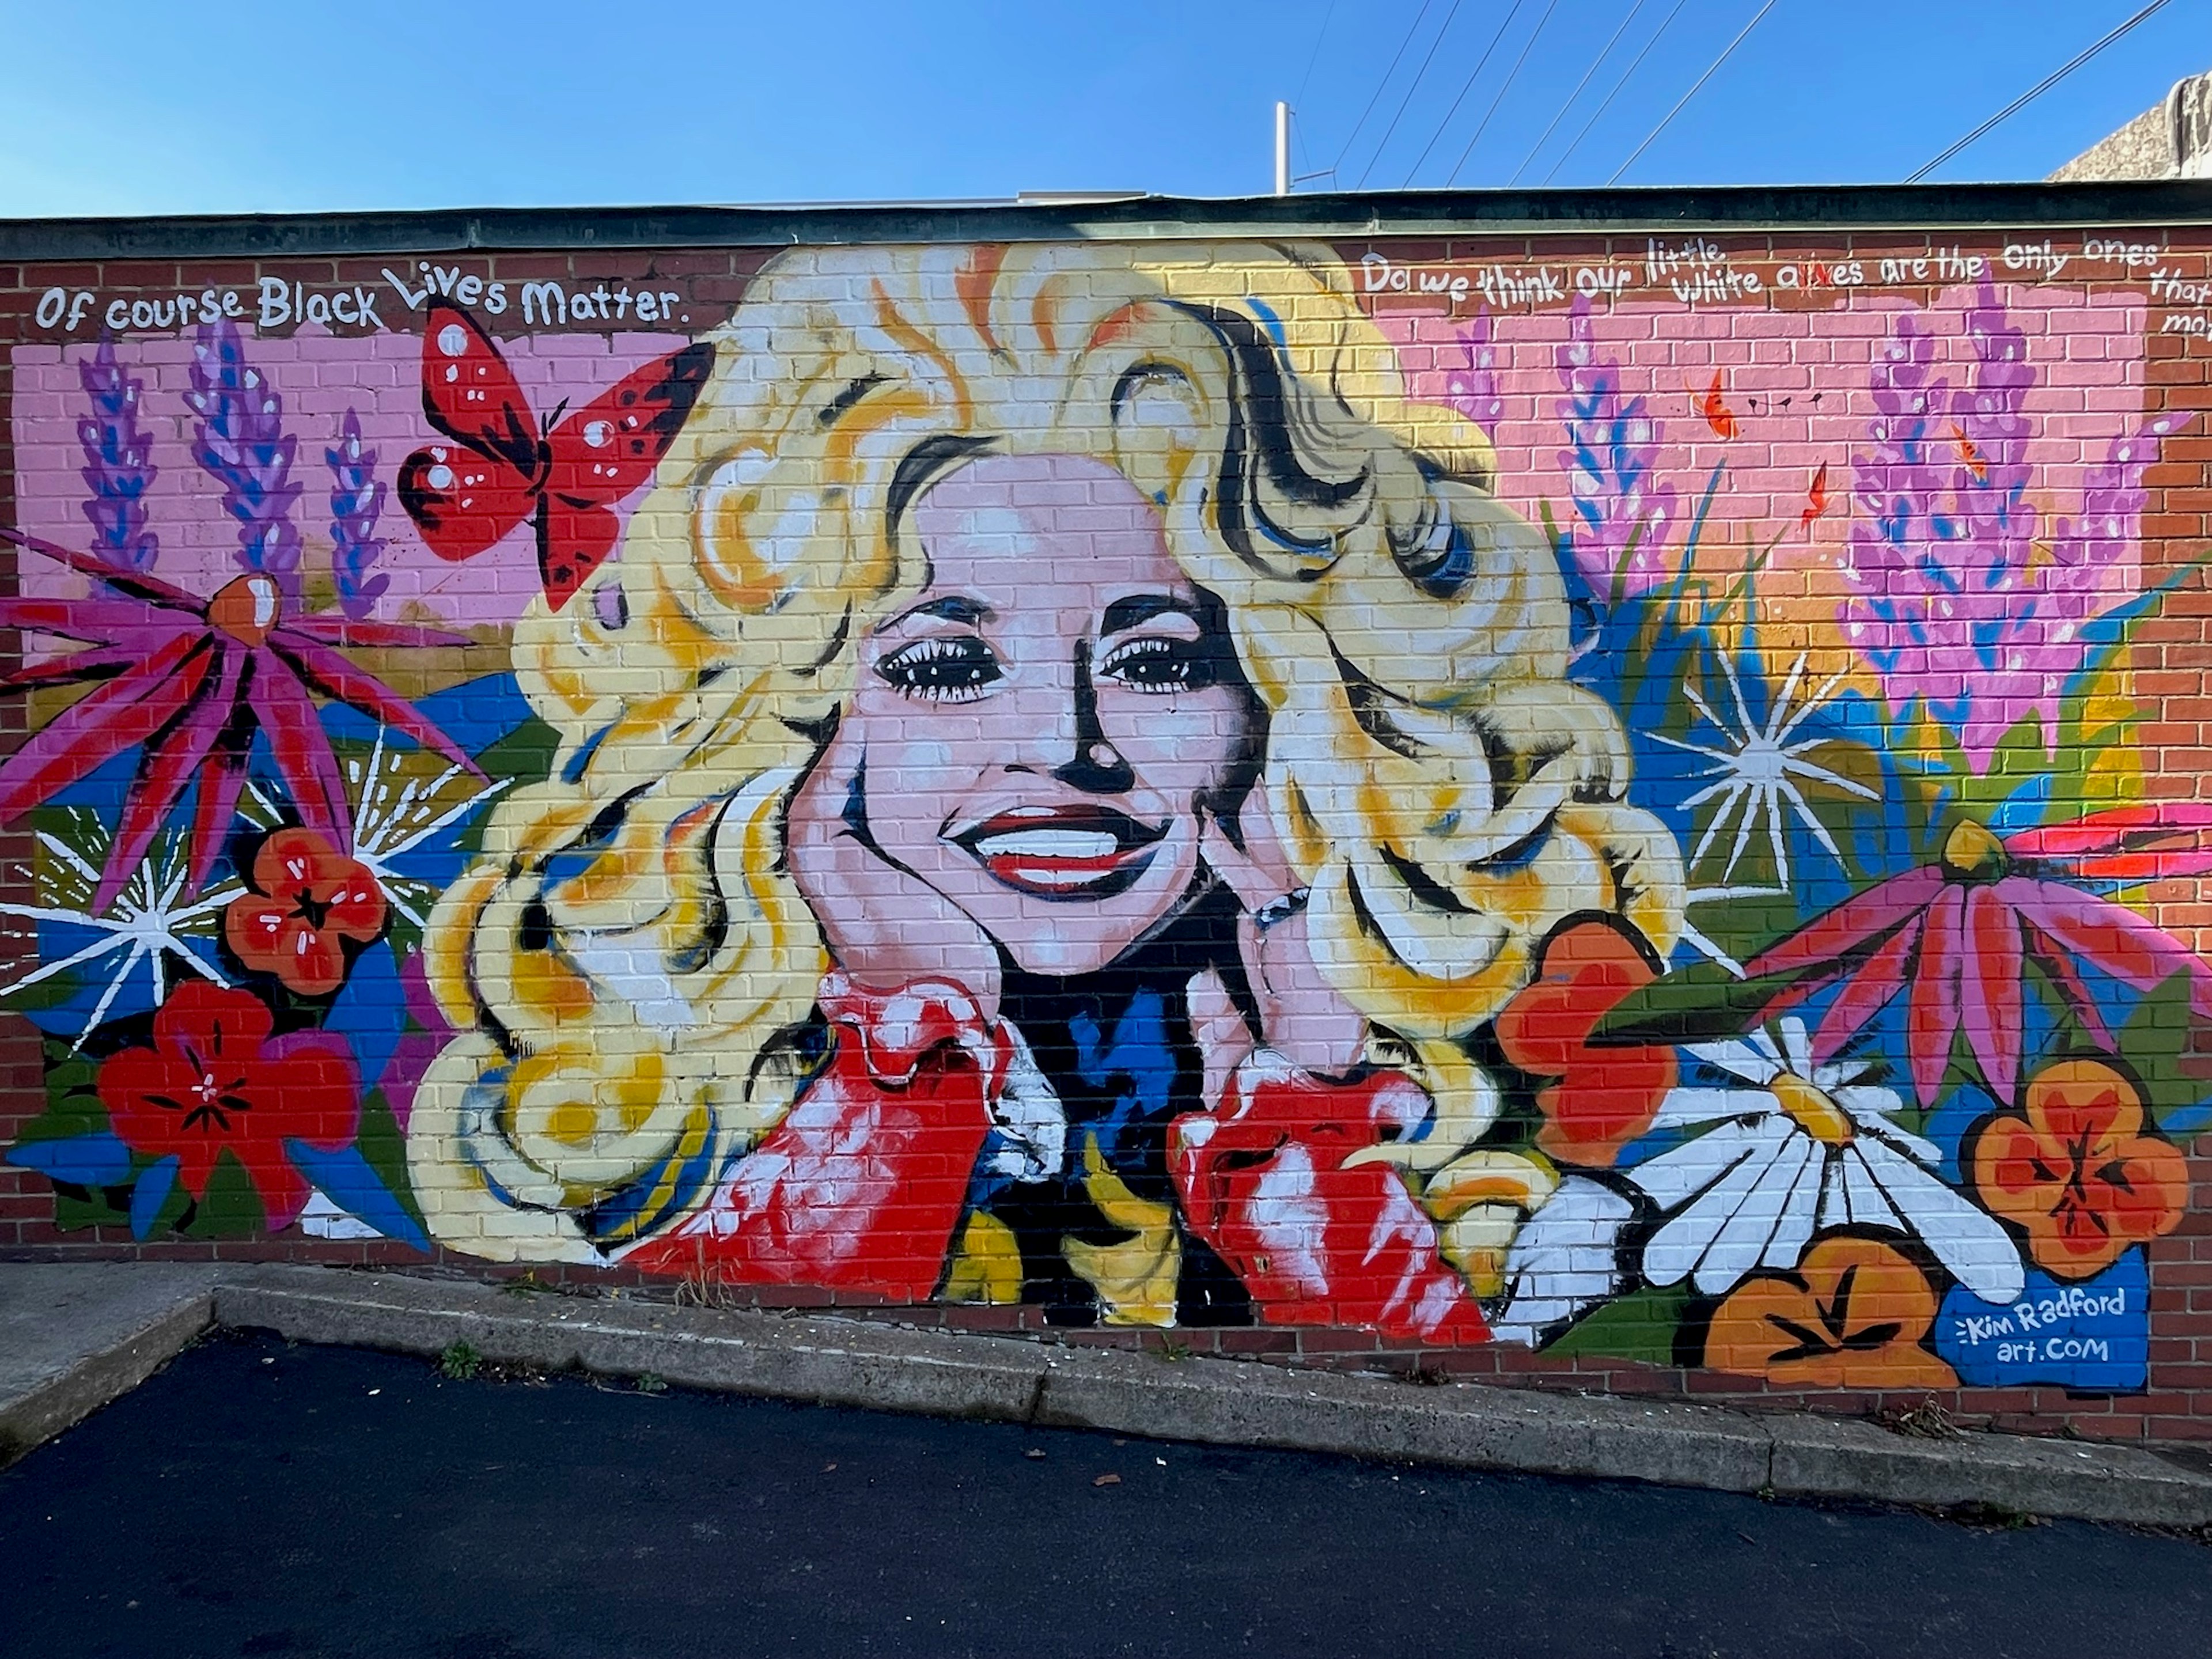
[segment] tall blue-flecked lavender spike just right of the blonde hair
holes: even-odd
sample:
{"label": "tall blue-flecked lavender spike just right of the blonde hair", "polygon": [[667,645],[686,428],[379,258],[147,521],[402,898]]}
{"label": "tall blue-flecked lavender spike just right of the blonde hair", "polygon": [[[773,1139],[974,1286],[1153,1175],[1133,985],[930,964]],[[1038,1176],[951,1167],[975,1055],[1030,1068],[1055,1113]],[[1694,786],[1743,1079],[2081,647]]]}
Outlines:
{"label": "tall blue-flecked lavender spike just right of the blonde hair", "polygon": [[1582,520],[1571,526],[1575,566],[1597,595],[1650,593],[1666,580],[1674,522],[1672,487],[1652,482],[1663,431],[1641,396],[1621,396],[1619,361],[1599,354],[1590,338],[1588,294],[1575,296],[1557,363],[1568,445],[1559,467]]}

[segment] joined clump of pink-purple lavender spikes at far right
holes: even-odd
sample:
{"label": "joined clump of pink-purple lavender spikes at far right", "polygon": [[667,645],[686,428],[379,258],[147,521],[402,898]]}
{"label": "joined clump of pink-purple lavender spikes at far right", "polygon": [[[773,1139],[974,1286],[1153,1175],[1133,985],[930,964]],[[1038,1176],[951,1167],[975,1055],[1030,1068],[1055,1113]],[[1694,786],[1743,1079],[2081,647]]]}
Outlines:
{"label": "joined clump of pink-purple lavender spikes at far right", "polygon": [[1851,456],[1854,498],[1838,611],[1893,703],[1922,699],[1975,768],[2022,714],[2046,732],[2081,664],[2081,626],[2135,595],[2143,469],[2179,420],[2112,440],[2084,480],[2079,524],[2037,557],[2026,460],[2035,387],[2026,334],[1995,288],[1966,312],[1973,385],[1933,374],[1936,338],[1900,314],[1874,363],[1871,449]]}

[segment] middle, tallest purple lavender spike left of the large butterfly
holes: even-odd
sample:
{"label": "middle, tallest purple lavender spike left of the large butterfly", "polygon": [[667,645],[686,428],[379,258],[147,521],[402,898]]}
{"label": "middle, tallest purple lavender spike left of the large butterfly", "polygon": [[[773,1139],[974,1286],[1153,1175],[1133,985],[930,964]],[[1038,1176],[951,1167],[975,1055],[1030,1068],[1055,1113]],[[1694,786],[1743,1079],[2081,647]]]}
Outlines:
{"label": "middle, tallest purple lavender spike left of the large butterfly", "polygon": [[239,325],[201,323],[192,343],[192,389],[186,405],[199,416],[192,440],[197,460],[223,487],[223,507],[239,520],[239,564],[272,575],[299,602],[299,526],[288,482],[299,447],[283,429],[283,398],[246,363]]}

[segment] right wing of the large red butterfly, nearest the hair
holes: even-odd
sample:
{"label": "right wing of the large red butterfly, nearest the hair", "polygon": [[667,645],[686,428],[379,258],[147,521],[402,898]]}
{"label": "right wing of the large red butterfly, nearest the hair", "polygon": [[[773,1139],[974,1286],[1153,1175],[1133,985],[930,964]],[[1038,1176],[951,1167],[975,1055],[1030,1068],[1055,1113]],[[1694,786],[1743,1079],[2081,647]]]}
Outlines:
{"label": "right wing of the large red butterfly, nearest the hair", "polygon": [[686,345],[622,376],[553,429],[538,566],[555,611],[615,551],[619,522],[608,509],[653,478],[712,367],[710,341]]}

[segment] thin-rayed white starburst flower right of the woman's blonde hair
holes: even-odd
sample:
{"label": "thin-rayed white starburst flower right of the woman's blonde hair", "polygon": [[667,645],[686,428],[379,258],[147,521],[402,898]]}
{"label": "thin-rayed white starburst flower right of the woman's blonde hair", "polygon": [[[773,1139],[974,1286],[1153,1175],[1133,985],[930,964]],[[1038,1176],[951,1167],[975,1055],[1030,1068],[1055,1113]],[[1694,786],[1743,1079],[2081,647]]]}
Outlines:
{"label": "thin-rayed white starburst flower right of the woman's blonde hair", "polygon": [[1743,852],[1752,845],[1752,836],[1763,832],[1767,845],[1774,849],[1774,878],[1781,887],[1787,887],[1790,847],[1783,836],[1787,827],[1785,810],[1796,816],[1796,821],[1803,823],[1823,847],[1827,847],[1832,858],[1840,863],[1843,849],[1836,847],[1836,838],[1829,836],[1827,825],[1820,823],[1820,816],[1812,810],[1812,803],[1798,785],[1818,783],[1832,790],[1843,790],[1845,794],[1856,794],[1860,801],[1878,801],[1880,796],[1856,779],[1847,779],[1840,772],[1832,772],[1825,765],[1807,761],[1805,754],[1820,748],[1829,739],[1798,737],[1798,730],[1829,703],[1849,670],[1838,668],[1803,703],[1794,703],[1798,686],[1805,679],[1805,655],[1798,653],[1783,688],[1767,699],[1767,714],[1763,721],[1752,717],[1750,703],[1743,697],[1743,681],[1736,679],[1734,661],[1721,657],[1721,672],[1728,677],[1728,695],[1734,703],[1734,719],[1723,719],[1712,703],[1705,701],[1697,686],[1683,686],[1683,695],[1690,699],[1690,706],[1705,717],[1705,723],[1721,732],[1721,745],[1692,743],[1688,739],[1652,732],[1652,741],[1657,743],[1712,761],[1712,765],[1699,772],[1699,776],[1712,779],[1712,783],[1697,790],[1681,803],[1683,812],[1694,812],[1708,801],[1719,801],[1712,812],[1712,821],[1705,825],[1705,834],[1697,838],[1697,847],[1690,852],[1690,867],[1697,869],[1697,865],[1703,863],[1712,843],[1721,836],[1730,821],[1734,821],[1736,838],[1728,849],[1728,865],[1721,869],[1721,880],[1725,883],[1736,874],[1736,865],[1743,860]]}

